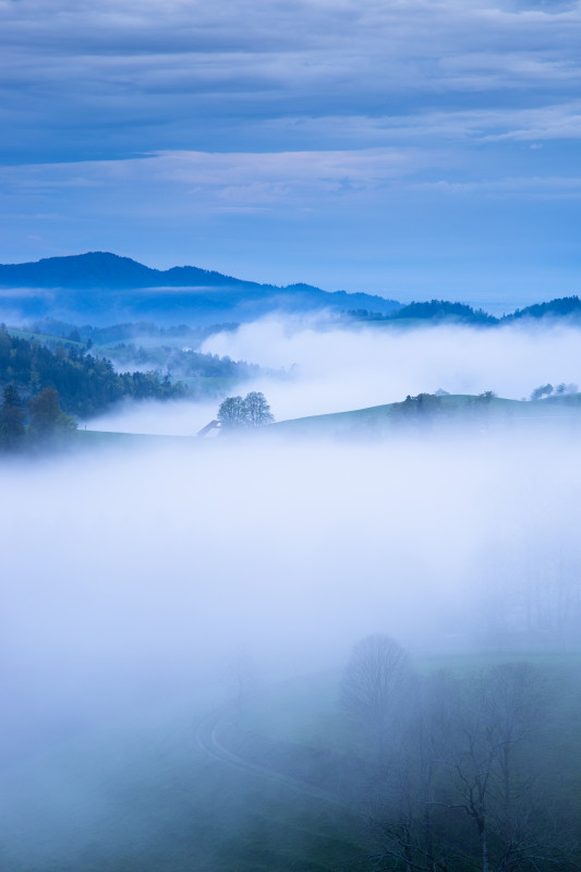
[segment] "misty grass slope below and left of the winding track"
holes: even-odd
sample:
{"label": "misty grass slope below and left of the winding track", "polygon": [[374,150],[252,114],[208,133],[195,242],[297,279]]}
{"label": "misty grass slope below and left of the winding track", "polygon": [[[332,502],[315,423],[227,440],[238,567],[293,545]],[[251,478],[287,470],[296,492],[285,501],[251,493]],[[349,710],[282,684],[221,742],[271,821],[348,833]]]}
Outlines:
{"label": "misty grass slope below and left of the winding track", "polygon": [[[208,759],[203,708],[80,735],[3,778],[10,872],[323,872],[360,846],[319,800]],[[1,832],[4,831],[4,832]]]}

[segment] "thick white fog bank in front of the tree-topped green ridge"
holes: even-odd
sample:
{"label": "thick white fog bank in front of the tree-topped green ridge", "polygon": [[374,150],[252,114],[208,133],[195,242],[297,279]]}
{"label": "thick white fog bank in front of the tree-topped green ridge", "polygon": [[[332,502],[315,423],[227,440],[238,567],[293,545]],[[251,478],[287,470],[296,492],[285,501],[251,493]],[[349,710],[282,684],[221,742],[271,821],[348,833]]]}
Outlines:
{"label": "thick white fog bank in front of the tree-topped green ridge", "polygon": [[241,646],[285,675],[378,628],[484,633],[499,552],[512,585],[532,554],[577,557],[577,450],[259,443],[3,469],[3,687],[25,714],[100,718],[193,691]]}

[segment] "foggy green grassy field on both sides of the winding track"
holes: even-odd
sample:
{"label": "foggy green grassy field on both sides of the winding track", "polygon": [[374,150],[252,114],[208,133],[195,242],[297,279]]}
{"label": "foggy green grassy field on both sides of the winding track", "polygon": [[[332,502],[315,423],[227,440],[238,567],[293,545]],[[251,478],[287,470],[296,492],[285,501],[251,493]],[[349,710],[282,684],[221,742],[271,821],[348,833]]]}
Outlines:
{"label": "foggy green grassy field on both sides of the winding track", "polygon": [[[524,655],[519,654],[519,658]],[[510,657],[426,656],[429,671],[477,671]],[[540,726],[546,801],[574,804],[581,826],[581,657],[532,654],[552,693]],[[269,765],[308,749],[341,761],[340,674],[296,678],[237,708],[225,732]],[[348,872],[370,870],[362,819],[340,804],[211,759],[196,727],[217,697],[180,697],[80,729],[4,765],[0,869],[7,872]],[[233,710],[234,711],[234,710]],[[238,735],[238,740],[237,740]],[[250,737],[250,738],[249,738]],[[316,758],[320,770],[320,754]],[[324,761],[325,762],[325,761]]]}

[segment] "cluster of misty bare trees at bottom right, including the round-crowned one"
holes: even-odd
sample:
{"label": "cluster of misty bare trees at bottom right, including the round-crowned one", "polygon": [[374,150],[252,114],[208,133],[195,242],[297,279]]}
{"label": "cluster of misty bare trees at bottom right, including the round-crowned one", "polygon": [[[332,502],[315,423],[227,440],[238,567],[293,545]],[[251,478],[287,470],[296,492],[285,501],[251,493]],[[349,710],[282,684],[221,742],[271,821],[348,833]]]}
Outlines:
{"label": "cluster of misty bare trees at bottom right, including the round-crowned one", "polygon": [[414,675],[388,635],[355,646],[342,699],[359,759],[351,801],[370,823],[374,869],[573,868],[574,822],[543,785],[543,688],[525,662],[462,680]]}

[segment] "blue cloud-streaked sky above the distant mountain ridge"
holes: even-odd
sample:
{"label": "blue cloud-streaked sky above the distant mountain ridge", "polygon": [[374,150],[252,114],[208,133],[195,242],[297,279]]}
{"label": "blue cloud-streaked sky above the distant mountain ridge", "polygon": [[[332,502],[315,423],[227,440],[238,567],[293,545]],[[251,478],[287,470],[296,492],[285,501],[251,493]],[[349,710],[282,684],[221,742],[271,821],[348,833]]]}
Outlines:
{"label": "blue cloud-streaked sky above the distant mountain ridge", "polygon": [[581,291],[581,3],[0,0],[0,262]]}

